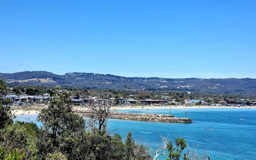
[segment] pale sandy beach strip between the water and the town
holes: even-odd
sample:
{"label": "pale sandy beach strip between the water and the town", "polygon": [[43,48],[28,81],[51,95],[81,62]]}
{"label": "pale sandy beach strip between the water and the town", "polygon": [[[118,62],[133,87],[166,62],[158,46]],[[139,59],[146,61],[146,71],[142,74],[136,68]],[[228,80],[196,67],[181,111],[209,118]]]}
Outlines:
{"label": "pale sandy beach strip between the water and the town", "polygon": [[[87,110],[87,108],[85,107],[79,107],[79,106],[76,106],[74,107],[76,109],[81,109],[81,110]],[[253,107],[234,107],[234,106],[231,106],[231,107],[228,107],[228,106],[206,106],[206,105],[203,105],[203,106],[125,106],[125,107],[121,107],[121,106],[118,106],[118,107],[113,107],[113,110],[136,110],[136,109],[187,109],[187,108],[256,108],[256,106],[253,106]],[[12,110],[12,113],[15,113],[15,115],[22,115],[22,113],[25,115],[36,115],[38,113],[40,113],[40,111],[35,111],[35,110],[27,110],[25,112],[25,110]]]}

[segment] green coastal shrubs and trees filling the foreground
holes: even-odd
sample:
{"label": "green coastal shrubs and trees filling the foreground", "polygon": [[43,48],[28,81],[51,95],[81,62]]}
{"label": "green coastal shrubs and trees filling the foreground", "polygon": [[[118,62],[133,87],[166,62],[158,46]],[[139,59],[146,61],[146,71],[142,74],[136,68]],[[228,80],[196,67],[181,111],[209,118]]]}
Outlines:
{"label": "green coastal shrubs and trees filling the foreground", "polygon": [[[87,121],[72,112],[71,92],[61,91],[58,86],[48,107],[38,115],[41,128],[33,122],[13,122],[15,115],[3,98],[6,92],[7,85],[0,79],[0,157],[4,160],[152,160],[165,153],[168,153],[167,160],[179,160],[187,147],[183,138],[175,139],[176,148],[165,138],[164,147],[160,149],[163,152],[157,153],[159,149],[150,152],[153,151],[150,147],[134,140],[132,132],[128,132],[123,141],[119,134],[111,135],[106,128],[110,114],[108,104],[92,102],[95,114]],[[183,154],[183,159],[194,159],[188,153]]]}

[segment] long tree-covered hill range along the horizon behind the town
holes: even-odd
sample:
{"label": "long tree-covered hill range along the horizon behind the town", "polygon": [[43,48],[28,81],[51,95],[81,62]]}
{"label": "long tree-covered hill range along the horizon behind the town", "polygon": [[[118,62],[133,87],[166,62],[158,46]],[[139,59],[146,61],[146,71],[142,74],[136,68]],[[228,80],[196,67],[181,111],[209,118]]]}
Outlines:
{"label": "long tree-covered hill range along the horizon behind the town", "polygon": [[[141,89],[149,91],[191,91],[207,93],[256,94],[256,79],[171,79],[158,77],[122,77],[111,74],[66,73],[57,75],[46,71],[0,73],[0,78],[13,85],[61,85],[96,89]],[[31,80],[32,79],[32,80]]]}

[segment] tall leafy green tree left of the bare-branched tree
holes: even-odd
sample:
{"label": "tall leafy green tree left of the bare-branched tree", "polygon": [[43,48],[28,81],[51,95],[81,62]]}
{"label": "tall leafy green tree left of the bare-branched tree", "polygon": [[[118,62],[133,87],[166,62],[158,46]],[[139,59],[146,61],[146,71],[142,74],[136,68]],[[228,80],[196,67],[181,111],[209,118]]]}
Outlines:
{"label": "tall leafy green tree left of the bare-branched tree", "polygon": [[59,91],[56,87],[56,96],[49,102],[48,108],[42,109],[37,120],[42,123],[42,128],[53,147],[59,146],[61,135],[74,133],[85,127],[84,119],[72,112],[71,93],[67,90]]}

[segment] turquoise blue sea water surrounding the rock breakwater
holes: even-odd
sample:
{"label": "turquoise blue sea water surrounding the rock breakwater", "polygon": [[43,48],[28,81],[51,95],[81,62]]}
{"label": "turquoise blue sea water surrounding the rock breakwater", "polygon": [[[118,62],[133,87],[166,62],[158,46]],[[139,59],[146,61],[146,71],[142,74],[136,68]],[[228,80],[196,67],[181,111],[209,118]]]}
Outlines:
{"label": "turquoise blue sea water surrounding the rock breakwater", "polygon": [[[169,114],[170,109],[150,110],[119,110],[130,113],[157,113]],[[175,117],[185,117],[194,123],[161,123],[132,120],[110,119],[108,131],[119,128],[119,133],[125,138],[128,130],[131,130],[135,139],[143,138],[144,143],[149,143],[157,148],[161,143],[161,135],[168,135],[174,140],[175,137],[184,137],[190,147],[198,143],[199,152],[207,150],[211,159],[222,160],[249,160],[256,157],[256,109],[242,108],[206,108],[206,109],[171,109]],[[25,121],[29,117],[35,122],[36,115],[18,115],[17,119]],[[240,118],[244,118],[243,121]],[[37,123],[41,126],[40,123]],[[211,128],[212,130],[204,130]],[[160,156],[164,159],[164,156]]]}

